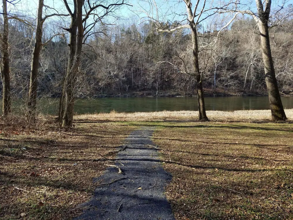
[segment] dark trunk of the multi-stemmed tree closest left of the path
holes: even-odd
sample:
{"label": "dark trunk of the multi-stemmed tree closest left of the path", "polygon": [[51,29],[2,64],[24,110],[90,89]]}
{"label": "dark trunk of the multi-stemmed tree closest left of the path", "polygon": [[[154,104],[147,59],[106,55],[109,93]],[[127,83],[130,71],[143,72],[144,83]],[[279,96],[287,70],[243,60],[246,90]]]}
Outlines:
{"label": "dark trunk of the multi-stemmed tree closest left of the path", "polygon": [[[70,58],[64,83],[65,106],[62,127],[70,128],[73,124],[74,96],[76,77],[79,72],[80,56],[83,40],[82,6],[84,0],[76,0],[76,6],[71,20]],[[75,17],[75,18],[74,18]],[[72,59],[73,55],[73,60]],[[72,61],[72,62],[71,62]]]}

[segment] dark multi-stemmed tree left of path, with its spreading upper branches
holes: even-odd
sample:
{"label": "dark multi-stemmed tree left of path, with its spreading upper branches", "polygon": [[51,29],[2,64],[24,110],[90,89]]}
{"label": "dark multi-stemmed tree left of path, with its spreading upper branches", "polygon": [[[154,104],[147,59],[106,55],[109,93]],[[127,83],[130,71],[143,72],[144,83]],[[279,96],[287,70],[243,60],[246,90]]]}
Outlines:
{"label": "dark multi-stemmed tree left of path, with its spreading upper branches", "polygon": [[[82,45],[85,43],[84,38],[88,38],[88,36],[95,33],[92,32],[92,29],[104,16],[108,15],[110,12],[113,12],[113,9],[116,6],[121,6],[125,3],[124,0],[122,0],[121,3],[114,3],[104,6],[102,4],[98,4],[97,1],[87,1],[87,4],[85,4],[84,0],[74,0],[74,11],[71,11],[67,0],[63,1],[71,17],[71,24],[69,28],[64,28],[69,32],[69,60],[59,105],[59,116],[62,115],[62,127],[70,128],[73,124],[76,78],[81,70],[80,61]],[[82,10],[83,8],[86,10],[84,16]],[[100,8],[105,11],[103,14],[98,15],[96,10]],[[88,19],[91,15],[93,15],[93,20]],[[63,107],[64,101],[65,103]],[[59,117],[59,120],[61,120],[61,117]]]}

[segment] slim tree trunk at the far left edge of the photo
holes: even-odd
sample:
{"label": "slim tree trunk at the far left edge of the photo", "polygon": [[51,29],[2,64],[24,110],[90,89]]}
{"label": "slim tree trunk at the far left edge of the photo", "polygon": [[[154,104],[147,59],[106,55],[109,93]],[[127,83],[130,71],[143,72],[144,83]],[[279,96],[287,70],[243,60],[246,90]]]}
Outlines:
{"label": "slim tree trunk at the far left edge of the photo", "polygon": [[11,112],[11,99],[10,99],[10,69],[9,69],[9,52],[8,52],[8,16],[7,16],[7,2],[3,3],[3,33],[2,33],[2,65],[1,65],[1,78],[2,78],[2,112],[6,116]]}

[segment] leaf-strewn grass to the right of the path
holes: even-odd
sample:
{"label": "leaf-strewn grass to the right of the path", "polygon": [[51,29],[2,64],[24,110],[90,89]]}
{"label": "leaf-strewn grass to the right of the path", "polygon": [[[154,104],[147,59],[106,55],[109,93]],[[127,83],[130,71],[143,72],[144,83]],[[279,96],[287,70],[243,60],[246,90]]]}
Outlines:
{"label": "leaf-strewn grass to the right of the path", "polygon": [[160,124],[177,220],[293,219],[292,124]]}

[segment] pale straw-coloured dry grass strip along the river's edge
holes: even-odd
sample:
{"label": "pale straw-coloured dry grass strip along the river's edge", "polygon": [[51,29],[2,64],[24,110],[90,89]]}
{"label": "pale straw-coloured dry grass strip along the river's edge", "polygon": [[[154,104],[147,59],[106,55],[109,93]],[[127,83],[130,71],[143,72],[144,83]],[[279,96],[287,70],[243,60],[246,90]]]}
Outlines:
{"label": "pale straw-coloured dry grass strip along the river's edge", "polygon": [[[293,109],[285,110],[287,118],[293,120]],[[255,121],[270,120],[270,110],[243,110],[243,111],[207,111],[207,116],[213,121]],[[76,120],[92,121],[173,121],[197,120],[198,111],[155,111],[135,113],[110,113],[77,115]]]}

